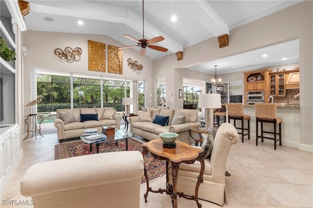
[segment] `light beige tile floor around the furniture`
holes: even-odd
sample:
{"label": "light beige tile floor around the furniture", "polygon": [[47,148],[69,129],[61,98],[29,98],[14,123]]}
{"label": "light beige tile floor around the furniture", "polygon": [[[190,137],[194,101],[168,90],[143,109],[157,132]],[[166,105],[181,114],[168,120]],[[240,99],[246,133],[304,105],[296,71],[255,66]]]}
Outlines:
{"label": "light beige tile floor around the furniture", "polygon": [[[123,127],[123,126],[121,126]],[[54,160],[54,146],[58,144],[56,134],[44,137],[28,138],[22,141],[23,154],[13,173],[2,198],[1,208],[32,207],[9,206],[3,200],[30,200],[20,194],[20,180],[27,168],[49,160]],[[245,140],[245,143],[233,145],[230,149],[226,177],[227,205],[225,208],[312,208],[313,207],[313,153],[288,146],[259,143]],[[152,183],[153,189],[165,188],[165,177]],[[144,202],[146,185],[141,186],[141,208],[170,208],[169,195],[148,194]],[[219,205],[200,200],[202,208],[215,208]],[[179,208],[197,207],[196,203],[178,198]]]}

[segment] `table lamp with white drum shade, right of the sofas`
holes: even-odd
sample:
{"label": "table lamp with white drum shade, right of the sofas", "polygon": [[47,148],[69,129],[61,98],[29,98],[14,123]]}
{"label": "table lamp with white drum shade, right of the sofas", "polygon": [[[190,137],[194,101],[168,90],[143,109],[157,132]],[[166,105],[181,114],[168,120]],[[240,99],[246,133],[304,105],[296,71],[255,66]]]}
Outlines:
{"label": "table lamp with white drum shade, right of the sofas", "polygon": [[205,125],[207,129],[214,127],[214,112],[213,108],[221,108],[221,94],[209,93],[199,95],[199,107],[205,108]]}

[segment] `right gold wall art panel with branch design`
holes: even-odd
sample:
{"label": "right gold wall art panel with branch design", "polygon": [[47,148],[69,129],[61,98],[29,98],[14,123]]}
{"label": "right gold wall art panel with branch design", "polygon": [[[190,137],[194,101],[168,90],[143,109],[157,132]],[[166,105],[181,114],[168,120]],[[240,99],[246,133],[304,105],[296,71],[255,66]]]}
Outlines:
{"label": "right gold wall art panel with branch design", "polygon": [[108,72],[123,74],[123,50],[108,45]]}

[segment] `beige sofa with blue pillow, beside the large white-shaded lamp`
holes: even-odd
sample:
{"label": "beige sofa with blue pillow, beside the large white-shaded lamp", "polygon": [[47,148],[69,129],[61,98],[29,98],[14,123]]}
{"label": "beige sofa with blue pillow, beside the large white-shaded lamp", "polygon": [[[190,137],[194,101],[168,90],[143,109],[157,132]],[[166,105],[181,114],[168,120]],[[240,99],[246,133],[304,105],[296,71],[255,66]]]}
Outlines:
{"label": "beige sofa with blue pillow, beside the large white-shaded lamp", "polygon": [[[162,126],[159,124],[154,124],[153,122],[139,121],[139,114],[139,116],[129,118],[132,133],[147,140],[155,140],[160,139],[158,136],[160,133],[175,132],[179,134],[177,139],[178,141],[185,142],[187,144],[195,143],[195,140],[193,140],[189,135],[189,127],[193,125],[200,125],[201,118],[198,116],[198,110],[149,107],[148,111],[152,111],[152,120],[155,119],[156,115],[169,116],[169,125]],[[186,117],[186,123],[171,125],[173,116],[177,113]],[[193,132],[193,134],[195,134],[194,138],[197,138],[196,133]]]}

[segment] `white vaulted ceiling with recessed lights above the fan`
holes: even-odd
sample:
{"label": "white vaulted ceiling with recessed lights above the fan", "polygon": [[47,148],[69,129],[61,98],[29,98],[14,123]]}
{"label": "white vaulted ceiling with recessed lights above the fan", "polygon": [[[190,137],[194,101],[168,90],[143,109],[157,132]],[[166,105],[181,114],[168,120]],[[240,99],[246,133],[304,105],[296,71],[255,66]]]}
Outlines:
{"label": "white vaulted ceiling with recessed lights above the fan", "polygon": [[[27,30],[106,35],[121,42],[119,47],[134,45],[134,42],[125,38],[123,34],[136,39],[143,38],[142,0],[29,0],[29,2],[30,13],[25,16]],[[144,38],[149,40],[163,36],[165,40],[155,45],[169,49],[164,53],[149,48],[147,56],[157,59],[169,53],[183,51],[185,47],[228,34],[233,28],[298,2],[300,1],[145,0]],[[174,15],[177,17],[175,22],[171,21]],[[79,25],[78,21],[83,21],[83,24]],[[291,45],[286,45],[288,48],[283,50],[291,50],[289,48]],[[134,49],[139,51],[140,47]],[[298,54],[292,56],[292,59],[296,60]],[[190,68],[214,73],[213,66],[217,63],[212,64],[202,63]],[[205,70],[208,65],[212,66]]]}

